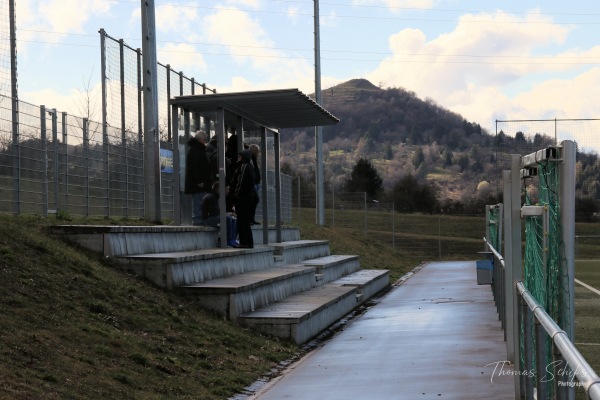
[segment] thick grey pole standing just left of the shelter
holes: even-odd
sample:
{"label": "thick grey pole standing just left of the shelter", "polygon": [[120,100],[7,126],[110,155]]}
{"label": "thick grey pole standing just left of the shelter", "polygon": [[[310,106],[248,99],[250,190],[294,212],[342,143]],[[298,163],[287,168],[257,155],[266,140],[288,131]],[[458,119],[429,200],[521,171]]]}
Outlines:
{"label": "thick grey pole standing just left of the shelter", "polygon": [[162,218],[160,203],[160,138],[154,0],[142,0],[142,58],[144,71],[144,217]]}

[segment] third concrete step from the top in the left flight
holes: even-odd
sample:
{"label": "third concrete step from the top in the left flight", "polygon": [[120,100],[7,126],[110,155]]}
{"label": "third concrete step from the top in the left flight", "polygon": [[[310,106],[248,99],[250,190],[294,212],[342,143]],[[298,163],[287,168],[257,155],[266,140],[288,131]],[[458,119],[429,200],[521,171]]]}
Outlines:
{"label": "third concrete step from the top in the left flight", "polygon": [[315,286],[315,269],[300,264],[246,272],[176,288],[198,296],[200,303],[231,321],[240,314],[285,299]]}

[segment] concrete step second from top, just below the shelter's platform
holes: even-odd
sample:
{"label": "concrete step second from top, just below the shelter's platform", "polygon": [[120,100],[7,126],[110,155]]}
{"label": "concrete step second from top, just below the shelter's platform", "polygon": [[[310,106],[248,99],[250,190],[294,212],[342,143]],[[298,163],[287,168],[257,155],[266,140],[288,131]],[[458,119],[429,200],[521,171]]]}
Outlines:
{"label": "concrete step second from top, just below the shelter's platform", "polygon": [[270,246],[139,254],[115,257],[114,260],[126,271],[167,289],[275,266],[273,247]]}

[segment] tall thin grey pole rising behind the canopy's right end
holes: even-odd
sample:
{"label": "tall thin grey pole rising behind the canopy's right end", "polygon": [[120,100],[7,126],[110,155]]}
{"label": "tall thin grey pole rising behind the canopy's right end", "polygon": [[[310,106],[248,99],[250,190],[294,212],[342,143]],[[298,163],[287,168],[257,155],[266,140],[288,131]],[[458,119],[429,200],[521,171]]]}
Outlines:
{"label": "tall thin grey pole rising behind the canopy's right end", "polygon": [[[321,34],[319,29],[319,0],[315,2],[315,101],[321,105]],[[317,225],[325,224],[323,185],[323,128],[315,126]]]}

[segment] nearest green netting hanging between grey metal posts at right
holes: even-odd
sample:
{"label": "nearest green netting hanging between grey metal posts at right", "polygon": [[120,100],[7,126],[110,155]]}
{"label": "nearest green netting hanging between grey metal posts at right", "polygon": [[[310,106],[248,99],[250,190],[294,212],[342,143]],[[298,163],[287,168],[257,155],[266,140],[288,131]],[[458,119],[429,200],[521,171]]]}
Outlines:
{"label": "nearest green netting hanging between grey metal posts at right", "polygon": [[[537,185],[536,185],[537,183]],[[562,235],[560,226],[560,200],[559,200],[559,168],[556,161],[543,161],[538,165],[538,176],[534,182],[525,182],[525,205],[542,206],[544,213],[541,216],[530,216],[525,224],[525,254],[523,263],[524,283],[536,301],[544,307],[546,312],[557,324],[568,331],[571,310],[562,300],[565,298],[563,291],[568,285],[568,279],[562,271],[563,254]],[[534,198],[537,196],[537,202]],[[523,324],[521,325],[523,326]],[[529,325],[532,326],[533,324]],[[523,334],[521,335],[521,349],[524,350]],[[535,334],[532,331],[533,342],[533,367],[535,368]],[[547,340],[543,360],[546,365],[552,363],[552,344]],[[521,351],[521,365],[524,366],[524,351]],[[543,377],[538,377],[542,379]],[[548,390],[552,391],[553,385],[548,382]]]}

